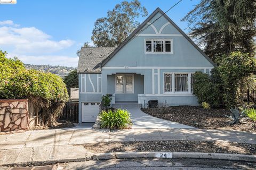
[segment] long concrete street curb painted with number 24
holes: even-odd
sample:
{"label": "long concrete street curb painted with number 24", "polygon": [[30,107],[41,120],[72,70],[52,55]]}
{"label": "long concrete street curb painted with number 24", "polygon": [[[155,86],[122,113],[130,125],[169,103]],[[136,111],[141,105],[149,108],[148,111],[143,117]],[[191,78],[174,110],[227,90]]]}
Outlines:
{"label": "long concrete street curb painted with number 24", "polygon": [[23,163],[0,164],[0,166],[28,166],[28,165],[50,165],[56,163],[68,162],[84,162],[88,160],[108,160],[108,159],[135,159],[135,158],[196,158],[196,159],[222,159],[222,160],[238,160],[246,162],[256,162],[256,155],[243,154],[219,154],[204,152],[113,152],[93,154],[93,156],[85,156],[84,158],[73,159],[54,159],[44,161],[32,161]]}

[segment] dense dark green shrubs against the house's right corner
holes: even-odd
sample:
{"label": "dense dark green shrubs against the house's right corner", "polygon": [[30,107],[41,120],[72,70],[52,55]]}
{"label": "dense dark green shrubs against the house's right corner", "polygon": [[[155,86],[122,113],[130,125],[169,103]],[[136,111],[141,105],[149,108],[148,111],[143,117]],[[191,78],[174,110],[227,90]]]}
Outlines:
{"label": "dense dark green shrubs against the house's right corner", "polygon": [[241,98],[241,89],[247,86],[247,79],[256,73],[256,60],[248,54],[233,52],[217,61],[212,75],[195,73],[194,94],[199,103],[206,101],[211,107],[234,107]]}

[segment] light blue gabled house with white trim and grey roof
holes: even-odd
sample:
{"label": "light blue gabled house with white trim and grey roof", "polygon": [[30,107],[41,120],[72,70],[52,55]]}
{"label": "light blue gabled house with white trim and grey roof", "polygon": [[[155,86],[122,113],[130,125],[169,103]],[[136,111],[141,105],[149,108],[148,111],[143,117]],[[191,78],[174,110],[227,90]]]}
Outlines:
{"label": "light blue gabled house with white trim and grey roof", "polygon": [[[193,73],[214,63],[157,8],[119,47],[82,47],[78,62],[79,122],[93,122],[101,96],[112,103],[148,100],[198,105]],[[96,115],[96,116],[95,116]]]}

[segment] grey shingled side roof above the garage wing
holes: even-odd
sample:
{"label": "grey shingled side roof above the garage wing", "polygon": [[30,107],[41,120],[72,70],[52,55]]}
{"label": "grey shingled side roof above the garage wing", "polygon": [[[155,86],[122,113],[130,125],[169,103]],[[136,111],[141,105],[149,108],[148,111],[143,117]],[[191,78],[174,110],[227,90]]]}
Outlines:
{"label": "grey shingled side roof above the garage wing", "polygon": [[77,72],[101,72],[100,63],[105,60],[115,48],[116,47],[81,47]]}

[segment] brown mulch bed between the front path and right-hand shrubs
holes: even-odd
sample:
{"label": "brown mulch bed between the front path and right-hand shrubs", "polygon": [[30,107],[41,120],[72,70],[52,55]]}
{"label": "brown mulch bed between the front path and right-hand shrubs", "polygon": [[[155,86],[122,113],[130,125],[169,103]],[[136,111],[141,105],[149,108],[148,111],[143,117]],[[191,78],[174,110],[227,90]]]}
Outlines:
{"label": "brown mulch bed between the front path and right-hand shrubs", "polygon": [[231,124],[228,109],[203,109],[198,106],[171,106],[164,111],[161,108],[141,109],[143,112],[163,120],[178,122],[202,129],[240,130],[256,132],[256,122],[245,118],[242,123]]}

